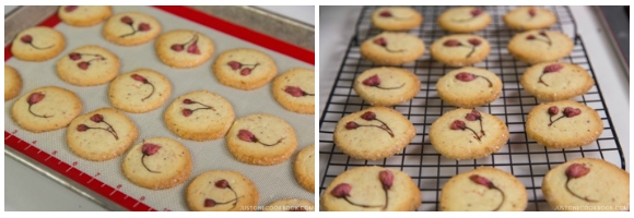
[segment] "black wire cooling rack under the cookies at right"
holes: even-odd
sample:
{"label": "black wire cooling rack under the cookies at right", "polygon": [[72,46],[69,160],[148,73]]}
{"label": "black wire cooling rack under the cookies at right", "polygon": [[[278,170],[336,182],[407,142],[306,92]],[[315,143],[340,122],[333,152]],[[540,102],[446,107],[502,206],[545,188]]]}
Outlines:
{"label": "black wire cooling rack under the cookies at right", "polygon": [[[381,160],[360,160],[341,153],[332,142],[337,122],[344,116],[371,107],[353,90],[354,78],[363,71],[378,66],[363,59],[360,44],[379,34],[381,31],[372,27],[371,14],[378,7],[364,7],[355,26],[356,34],[351,39],[345,57],[332,86],[330,96],[319,121],[319,173],[320,195],[330,182],[343,171],[360,166],[381,166],[399,169],[408,173],[419,185],[423,201],[418,210],[439,210],[438,199],[443,185],[455,174],[472,170],[480,166],[495,167],[513,173],[527,189],[529,204],[526,210],[552,210],[541,192],[544,174],[553,167],[565,161],[594,157],[601,158],[625,169],[625,159],[601,89],[588,60],[584,43],[576,33],[576,23],[567,7],[544,7],[553,11],[557,22],[550,27],[567,34],[574,39],[571,56],[562,62],[571,62],[586,69],[595,80],[595,86],[585,95],[573,100],[583,102],[597,110],[603,121],[603,133],[590,145],[571,149],[550,149],[529,140],[525,132],[528,112],[541,101],[525,92],[519,78],[529,64],[516,60],[508,53],[506,45],[517,32],[507,28],[502,16],[514,7],[481,7],[492,15],[492,23],[485,29],[474,33],[489,40],[491,52],[485,61],[473,66],[494,72],[503,82],[500,98],[489,105],[478,107],[504,120],[508,125],[510,137],[506,145],[495,154],[476,160],[453,160],[442,157],[432,146],[428,130],[432,123],[444,112],[455,109],[441,100],[436,82],[446,72],[455,70],[431,59],[428,51],[413,63],[401,68],[413,72],[421,81],[421,90],[409,101],[391,107],[406,116],[416,129],[413,141],[399,154]],[[437,16],[449,7],[412,7],[423,14],[424,23],[410,31],[418,35],[425,45],[449,33],[436,24]]]}

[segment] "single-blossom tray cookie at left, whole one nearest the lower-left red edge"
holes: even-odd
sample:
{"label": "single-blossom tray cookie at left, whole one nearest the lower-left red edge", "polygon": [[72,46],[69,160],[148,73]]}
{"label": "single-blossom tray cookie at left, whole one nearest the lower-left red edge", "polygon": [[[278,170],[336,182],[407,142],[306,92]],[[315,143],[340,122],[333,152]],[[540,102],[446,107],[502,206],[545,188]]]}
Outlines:
{"label": "single-blossom tray cookie at left, whole one nearest the lower-left red edge", "polygon": [[82,109],[82,100],[73,92],[44,86],[15,100],[11,118],[22,129],[39,133],[66,128]]}

